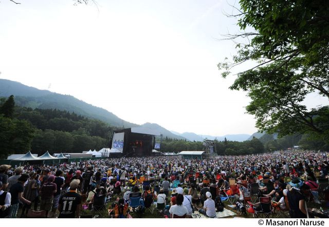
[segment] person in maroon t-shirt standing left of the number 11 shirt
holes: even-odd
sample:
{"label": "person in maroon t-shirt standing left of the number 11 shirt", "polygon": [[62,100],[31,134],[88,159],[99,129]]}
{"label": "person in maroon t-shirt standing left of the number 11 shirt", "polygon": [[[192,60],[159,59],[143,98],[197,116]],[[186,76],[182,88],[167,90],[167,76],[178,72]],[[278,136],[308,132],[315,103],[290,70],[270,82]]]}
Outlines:
{"label": "person in maroon t-shirt standing left of the number 11 shirt", "polygon": [[47,178],[47,181],[40,188],[40,210],[46,211],[46,217],[52,208],[53,204],[53,195],[57,192],[57,185],[53,183],[55,177],[53,175]]}

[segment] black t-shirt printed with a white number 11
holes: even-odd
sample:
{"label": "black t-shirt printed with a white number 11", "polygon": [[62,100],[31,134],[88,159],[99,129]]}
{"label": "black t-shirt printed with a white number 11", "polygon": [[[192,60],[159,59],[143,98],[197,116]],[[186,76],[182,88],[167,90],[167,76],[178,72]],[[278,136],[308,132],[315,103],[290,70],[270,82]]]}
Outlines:
{"label": "black t-shirt printed with a white number 11", "polygon": [[59,218],[75,218],[77,207],[81,204],[81,196],[75,192],[65,193],[61,196],[59,204],[61,204]]}

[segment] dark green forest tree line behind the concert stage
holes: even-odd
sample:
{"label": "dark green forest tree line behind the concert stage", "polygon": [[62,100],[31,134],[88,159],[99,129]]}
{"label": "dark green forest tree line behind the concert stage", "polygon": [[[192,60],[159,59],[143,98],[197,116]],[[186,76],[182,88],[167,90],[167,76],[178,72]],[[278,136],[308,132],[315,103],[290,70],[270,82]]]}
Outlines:
{"label": "dark green forest tree line behind the concert stage", "polygon": [[[79,153],[83,150],[109,147],[114,130],[102,121],[89,119],[76,113],[57,109],[32,109],[15,106],[14,97],[0,99],[0,159],[10,154]],[[273,139],[265,134],[251,141],[217,141],[215,150],[219,155],[246,155],[293,147],[296,144],[308,149],[322,149],[321,141],[307,140],[307,136],[285,136]],[[202,142],[164,138],[161,152],[203,150]]]}

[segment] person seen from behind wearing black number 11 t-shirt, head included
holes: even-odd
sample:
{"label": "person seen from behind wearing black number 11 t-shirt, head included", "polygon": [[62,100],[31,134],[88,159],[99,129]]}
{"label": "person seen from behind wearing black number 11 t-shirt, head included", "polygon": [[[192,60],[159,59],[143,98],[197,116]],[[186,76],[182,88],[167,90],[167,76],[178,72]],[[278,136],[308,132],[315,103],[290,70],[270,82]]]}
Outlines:
{"label": "person seen from behind wearing black number 11 t-shirt, head included", "polygon": [[81,209],[81,196],[77,193],[80,180],[72,180],[70,191],[61,196],[59,201],[59,218],[79,218]]}

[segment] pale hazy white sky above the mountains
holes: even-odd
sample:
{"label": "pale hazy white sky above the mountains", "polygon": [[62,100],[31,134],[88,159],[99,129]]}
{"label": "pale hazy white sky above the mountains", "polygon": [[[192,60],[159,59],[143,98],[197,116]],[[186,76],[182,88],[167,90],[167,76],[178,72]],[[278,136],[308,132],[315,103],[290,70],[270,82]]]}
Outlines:
{"label": "pale hazy white sky above the mountains", "polygon": [[[123,120],[202,135],[252,134],[242,91],[218,62],[237,27],[221,0],[0,3],[0,78],[70,94]],[[248,66],[243,66],[248,67]],[[237,69],[236,69],[237,70]],[[308,105],[324,103],[314,94]]]}

